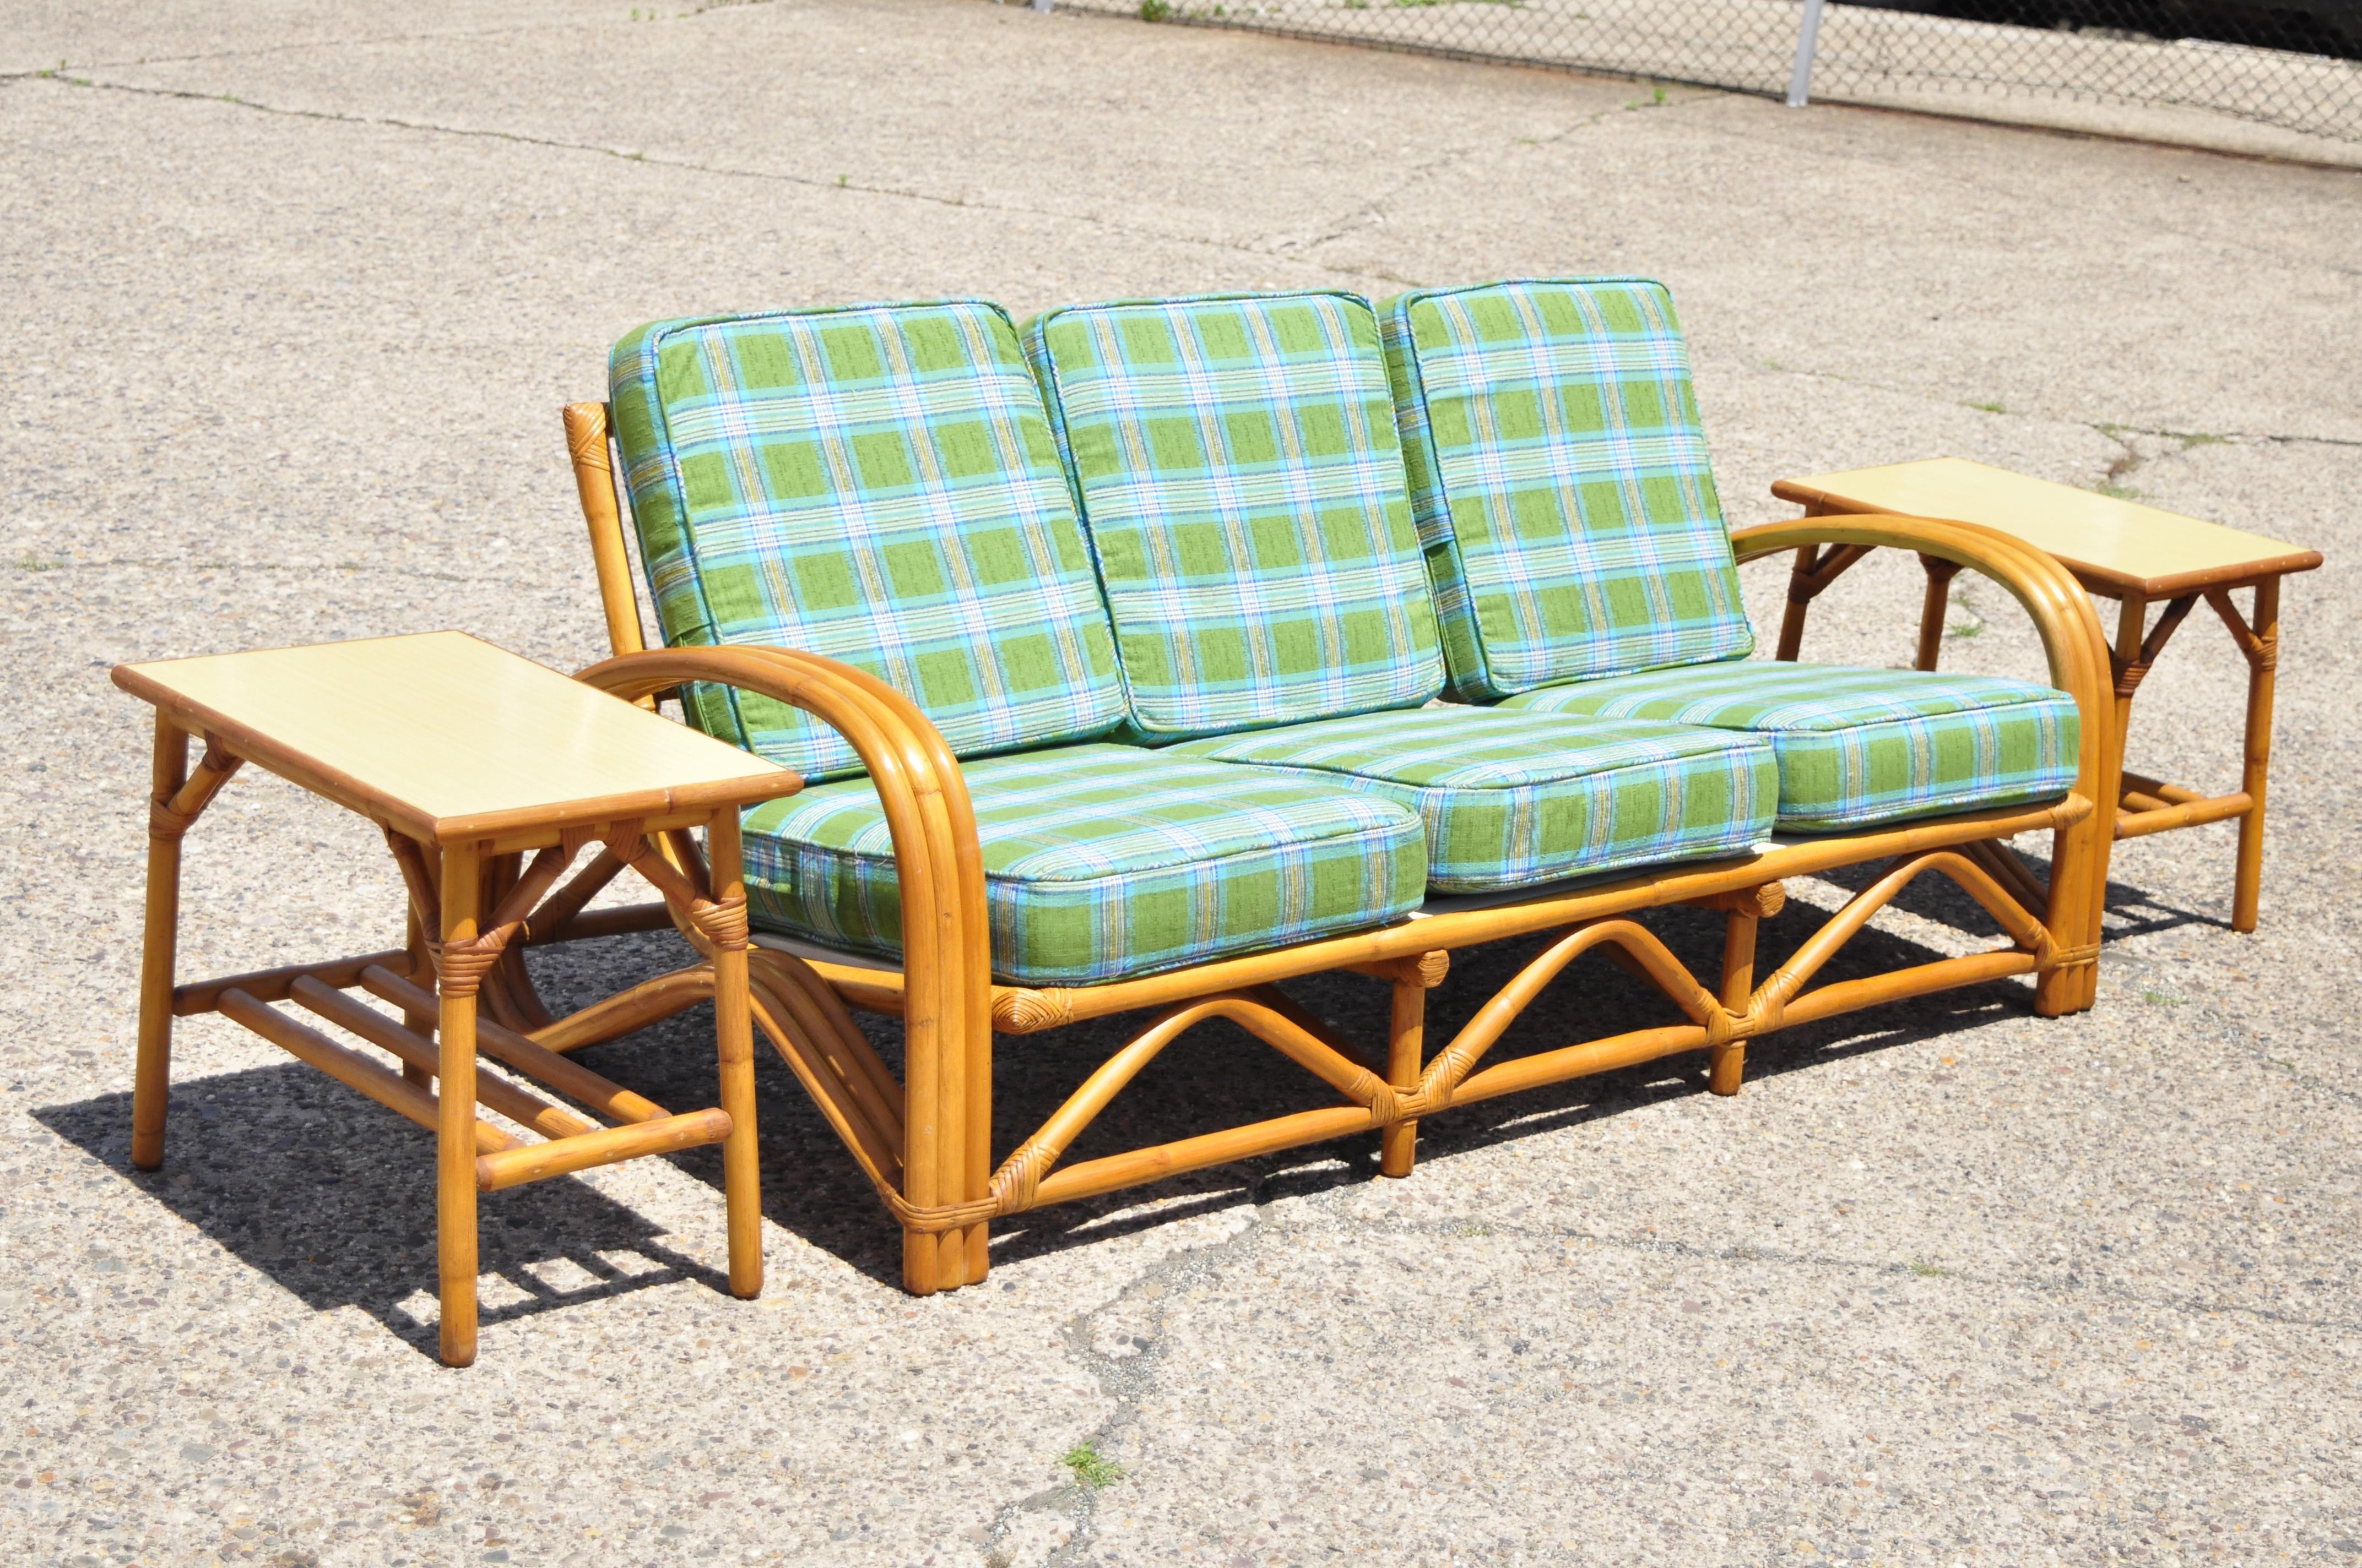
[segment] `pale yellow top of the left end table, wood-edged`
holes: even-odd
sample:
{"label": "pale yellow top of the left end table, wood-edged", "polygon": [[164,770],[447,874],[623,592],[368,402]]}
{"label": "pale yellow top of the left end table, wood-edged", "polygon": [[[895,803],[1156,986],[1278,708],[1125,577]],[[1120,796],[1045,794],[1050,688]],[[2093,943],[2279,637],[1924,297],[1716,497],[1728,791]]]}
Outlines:
{"label": "pale yellow top of the left end table, wood-edged", "polygon": [[182,727],[416,838],[751,805],[787,767],[456,631],[118,664]]}

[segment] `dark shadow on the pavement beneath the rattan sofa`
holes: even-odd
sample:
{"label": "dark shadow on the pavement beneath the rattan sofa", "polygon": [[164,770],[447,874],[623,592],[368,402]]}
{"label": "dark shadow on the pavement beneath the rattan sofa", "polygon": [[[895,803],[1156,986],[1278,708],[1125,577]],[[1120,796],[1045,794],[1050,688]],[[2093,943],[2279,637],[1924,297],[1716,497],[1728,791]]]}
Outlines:
{"label": "dark shadow on the pavement beneath the rattan sofa", "polygon": [[[1840,883],[1842,886],[1842,883]],[[1939,926],[1963,930],[1979,942],[1996,940],[1998,926],[1965,893],[1944,878],[1923,878],[1897,907]],[[1802,902],[1790,914],[1767,921],[1760,942],[1757,973],[1769,973],[1826,919]],[[1651,930],[1668,942],[1691,973],[1712,975],[1722,952],[1722,916],[1698,909],[1660,909],[1646,916]],[[1429,1053],[1438,1051],[1469,1018],[1514,978],[1545,945],[1545,937],[1493,942],[1455,954],[1453,973],[1429,994]],[[593,961],[590,949],[560,949],[574,975],[543,973],[536,956],[536,980],[553,1004],[576,1004],[626,982]],[[1944,956],[1908,937],[1866,928],[1821,971],[1819,980],[1875,975],[1908,963]],[[1389,992],[1382,982],[1351,973],[1292,980],[1285,989],[1344,1032],[1349,1039],[1384,1039]],[[1868,1008],[1814,1025],[1783,1030],[1753,1041],[1748,1077],[1764,1079],[1802,1072],[1823,1063],[1925,1041],[1939,1034],[1972,1030],[2010,1011],[2031,1006],[2031,982],[1996,980],[1982,987],[1942,992]],[[1068,1025],[1030,1037],[994,1039],[994,1133],[997,1152],[1030,1136],[1108,1056],[1122,1048],[1153,1013],[1127,1013],[1082,1025]],[[1549,1051],[1580,1039],[1679,1023],[1675,1006],[1651,985],[1616,968],[1604,954],[1587,954],[1561,973],[1552,987],[1507,1030],[1486,1056],[1488,1063]],[[872,1044],[900,1072],[902,1039],[893,1018],[862,1015]],[[616,1082],[654,1093],[666,1105],[694,1105],[711,1093],[711,1020],[704,1008],[683,1013],[640,1034],[595,1046],[586,1063]],[[836,1256],[879,1285],[900,1280],[900,1233],[886,1216],[867,1178],[836,1143],[834,1131],[803,1096],[787,1067],[768,1051],[758,1053],[758,1117],[763,1124],[763,1211],[765,1216]],[[1684,1053],[1637,1067],[1573,1079],[1547,1089],[1483,1100],[1431,1117],[1420,1126],[1420,1159],[1453,1159],[1462,1152],[1526,1138],[1561,1126],[1625,1115],[1675,1096],[1705,1093],[1705,1053]],[[1231,1023],[1205,1023],[1176,1039],[1150,1063],[1115,1103],[1077,1138],[1061,1164],[1072,1167],[1129,1148],[1169,1143],[1242,1122],[1278,1117],[1294,1110],[1335,1105],[1325,1084],[1264,1046]],[[711,1150],[676,1157],[699,1174],[720,1197],[720,1164]],[[1169,1226],[1190,1216],[1216,1214],[1240,1204],[1266,1204],[1304,1197],[1377,1178],[1375,1133],[1353,1133],[1254,1159],[1186,1171],[1160,1183],[1127,1188],[1091,1200],[1018,1214],[992,1226],[994,1266],[1096,1247],[1117,1237]],[[1412,1176],[1417,1178],[1417,1176]]]}

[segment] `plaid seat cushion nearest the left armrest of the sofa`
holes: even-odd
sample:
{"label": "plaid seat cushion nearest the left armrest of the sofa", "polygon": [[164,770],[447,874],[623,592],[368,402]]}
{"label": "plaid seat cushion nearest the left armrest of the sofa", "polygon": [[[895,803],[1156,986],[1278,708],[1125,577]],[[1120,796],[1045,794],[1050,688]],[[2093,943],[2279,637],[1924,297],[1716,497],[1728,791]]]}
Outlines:
{"label": "plaid seat cushion nearest the left armrest of the sofa", "polygon": [[[966,763],[992,973],[1087,985],[1391,921],[1420,902],[1420,819],[1346,789],[1136,746]],[[756,926],[898,954],[893,841],[867,779],[746,812]]]}

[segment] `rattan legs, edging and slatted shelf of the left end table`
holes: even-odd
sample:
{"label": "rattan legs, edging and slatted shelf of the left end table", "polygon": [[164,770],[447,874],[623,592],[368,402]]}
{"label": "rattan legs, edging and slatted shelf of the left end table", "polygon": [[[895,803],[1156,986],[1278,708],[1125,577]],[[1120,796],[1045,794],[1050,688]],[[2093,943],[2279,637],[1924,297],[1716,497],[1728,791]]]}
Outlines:
{"label": "rattan legs, edging and slatted shelf of the left end table", "polygon": [[[513,659],[472,638],[465,642],[479,649],[463,649],[461,664],[468,668],[496,668],[487,666],[487,659]],[[236,659],[286,659],[305,652],[326,649],[128,664],[113,671],[118,687],[156,706],[132,1164],[144,1171],[163,1164],[175,1018],[220,1013],[435,1131],[442,1299],[437,1337],[444,1363],[465,1367],[477,1353],[479,1195],[621,1159],[706,1143],[723,1145],[730,1292],[756,1296],[763,1287],[763,1214],[739,808],[791,793],[801,786],[796,775],[732,753],[737,779],[706,777],[678,784],[657,779],[654,786],[631,793],[550,798],[461,817],[435,815],[368,777],[354,777],[333,760],[307,753],[269,727],[243,723],[234,711],[191,697],[184,690],[189,682],[175,668],[175,664],[224,666]],[[394,656],[390,671],[399,675],[402,668]],[[621,744],[633,737],[650,739],[654,732],[647,732],[647,725],[678,732],[668,720],[583,692],[555,671],[529,668],[546,678],[529,682],[541,694],[579,692],[583,699],[595,699],[598,708],[612,706],[614,713],[605,716],[609,720],[628,716],[631,725],[616,732]],[[366,723],[399,720],[371,713]],[[196,767],[189,765],[191,739],[203,739]],[[465,751],[472,741],[482,737],[465,727],[416,737],[418,746],[454,751]],[[175,982],[182,841],[246,763],[380,827],[409,890],[402,947]],[[692,831],[704,831],[702,850]],[[600,845],[598,857],[572,881],[560,883],[576,855],[593,843]],[[520,1006],[515,997],[531,994],[522,966],[527,940],[567,940],[600,930],[600,912],[583,914],[583,904],[624,867],[654,886],[664,900],[659,907],[678,916],[680,930],[699,949],[699,961],[565,1020],[539,1008],[539,999]],[[352,989],[399,1008],[402,1018],[366,1006],[347,994]],[[631,1020],[647,1011],[650,994],[680,1006],[713,1001],[718,1105],[676,1115],[562,1056],[562,1048],[635,1027]],[[385,1051],[392,1065],[312,1023],[300,1023],[274,1004],[295,1004],[319,1023]],[[626,1020],[624,1027],[614,1027],[619,1018]],[[494,1058],[513,1077],[479,1074],[479,1056]],[[543,1098],[534,1086],[567,1096],[593,1115]],[[510,1126],[482,1119],[477,1105],[498,1112]],[[539,1141],[517,1136],[513,1126],[539,1133]]]}

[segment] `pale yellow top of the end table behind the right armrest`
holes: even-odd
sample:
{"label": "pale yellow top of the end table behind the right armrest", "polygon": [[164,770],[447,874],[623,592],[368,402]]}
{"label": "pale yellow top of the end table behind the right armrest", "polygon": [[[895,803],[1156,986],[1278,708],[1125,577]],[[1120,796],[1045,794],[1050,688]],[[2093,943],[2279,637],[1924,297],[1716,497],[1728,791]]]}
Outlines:
{"label": "pale yellow top of the end table behind the right armrest", "polygon": [[2159,600],[2322,564],[2319,550],[1965,458],[1779,479],[1772,494],[1828,512],[1979,522],[2055,555],[2086,588],[2119,597]]}

